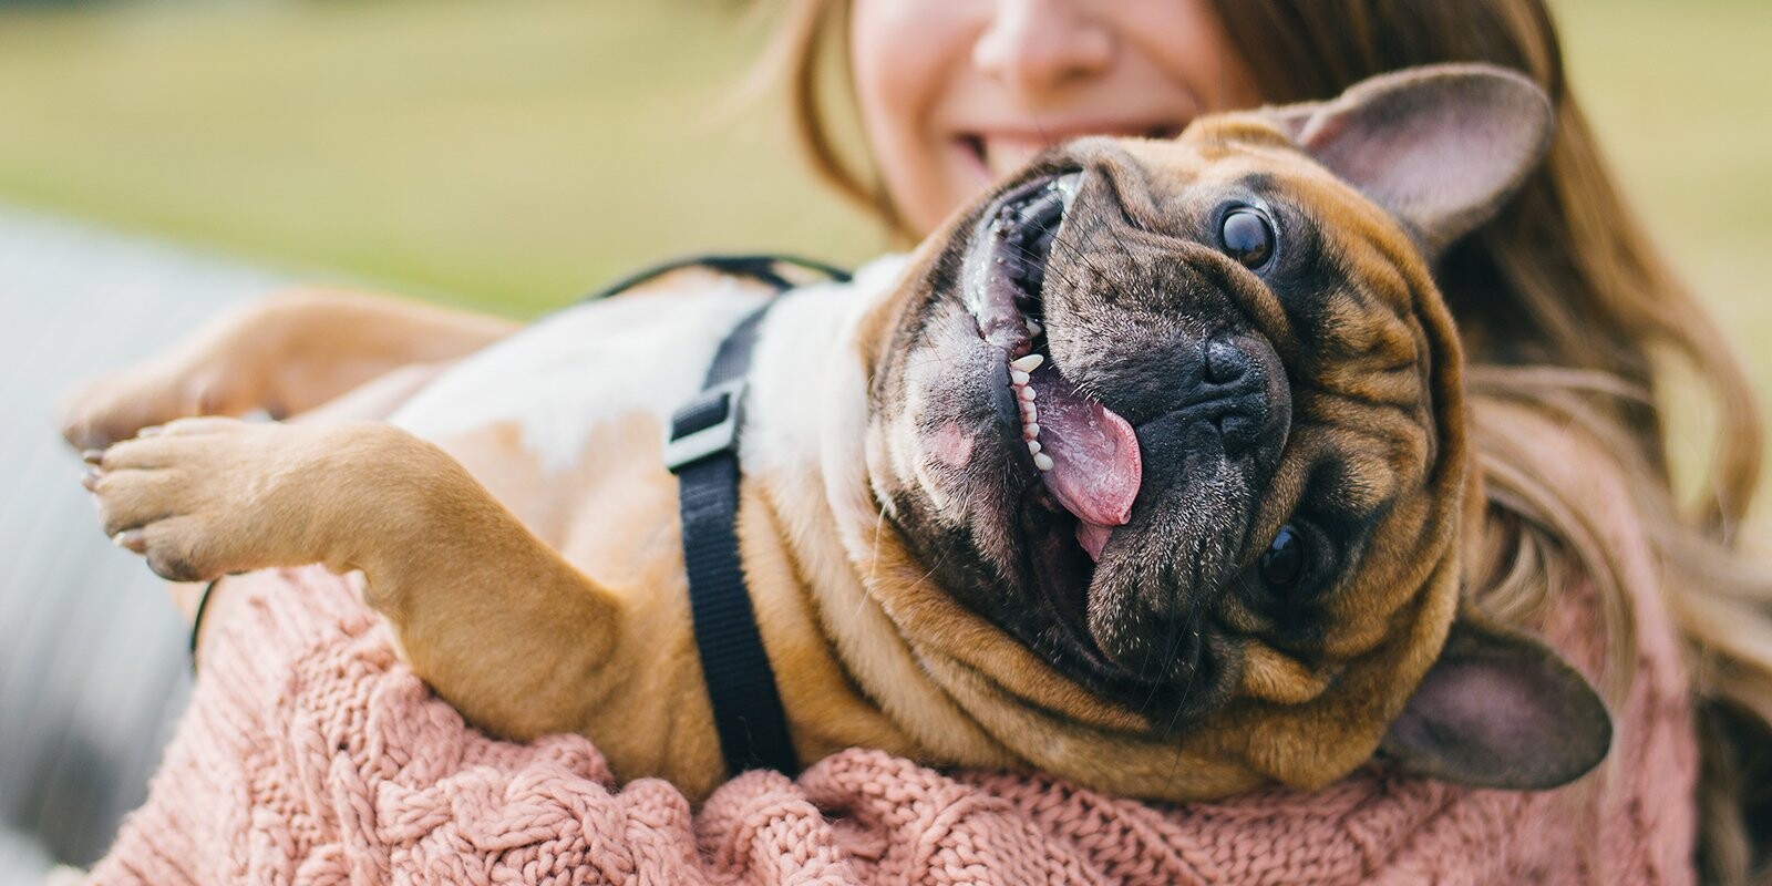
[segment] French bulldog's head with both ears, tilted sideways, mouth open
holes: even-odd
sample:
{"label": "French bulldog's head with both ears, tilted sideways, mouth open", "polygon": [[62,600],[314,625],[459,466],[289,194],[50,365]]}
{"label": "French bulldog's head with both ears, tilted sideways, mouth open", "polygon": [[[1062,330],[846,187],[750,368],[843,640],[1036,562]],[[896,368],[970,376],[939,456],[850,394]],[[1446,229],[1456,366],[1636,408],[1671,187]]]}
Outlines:
{"label": "French bulldog's head with both ears, tilted sideways, mouth open", "polygon": [[1458,66],[1038,158],[867,335],[881,544],[920,571],[874,592],[1014,638],[1040,675],[1012,695],[1226,758],[1157,796],[1375,751],[1496,787],[1588,771],[1593,689],[1460,602],[1460,353],[1428,275],[1550,120],[1527,80]]}

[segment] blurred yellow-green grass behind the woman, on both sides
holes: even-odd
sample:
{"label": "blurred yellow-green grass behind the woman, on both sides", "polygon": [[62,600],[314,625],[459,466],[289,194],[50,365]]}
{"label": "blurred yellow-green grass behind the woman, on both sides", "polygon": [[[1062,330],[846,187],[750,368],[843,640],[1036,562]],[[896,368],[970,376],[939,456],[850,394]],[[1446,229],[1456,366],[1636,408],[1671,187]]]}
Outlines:
{"label": "blurred yellow-green grass behind the woman, on both sides", "polygon": [[[1627,191],[1772,392],[1772,4],[1552,4]],[[781,108],[737,101],[766,28],[714,0],[0,12],[0,202],[516,315],[688,252],[865,259]]]}

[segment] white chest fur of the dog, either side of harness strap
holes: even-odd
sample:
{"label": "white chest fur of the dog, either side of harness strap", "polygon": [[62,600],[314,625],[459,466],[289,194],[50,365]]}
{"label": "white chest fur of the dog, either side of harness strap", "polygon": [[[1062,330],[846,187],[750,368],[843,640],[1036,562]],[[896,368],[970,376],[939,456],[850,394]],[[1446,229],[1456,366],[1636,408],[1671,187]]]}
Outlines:
{"label": "white chest fur of the dog, either side of harness strap", "polygon": [[[746,473],[797,475],[817,459],[829,363],[895,269],[875,262],[858,278],[868,285],[801,289],[769,314],[751,367]],[[673,273],[462,360],[390,420],[443,447],[542,540],[587,565],[613,553],[602,539],[673,525],[675,484],[663,464],[670,415],[702,390],[725,335],[771,294]]]}

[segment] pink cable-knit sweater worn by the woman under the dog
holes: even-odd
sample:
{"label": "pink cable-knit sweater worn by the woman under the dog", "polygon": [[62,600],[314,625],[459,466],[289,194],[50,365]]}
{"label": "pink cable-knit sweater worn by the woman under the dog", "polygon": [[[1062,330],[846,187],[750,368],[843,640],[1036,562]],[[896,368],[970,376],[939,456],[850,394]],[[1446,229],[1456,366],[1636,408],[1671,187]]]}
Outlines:
{"label": "pink cable-knit sweater worn by the woman under the dog", "polygon": [[[1625,583],[1653,590],[1646,558],[1632,569]],[[1636,594],[1639,670],[1611,758],[1556,792],[1361,771],[1315,794],[1154,806],[852,750],[797,780],[748,773],[696,812],[663,781],[615,785],[581,737],[464,727],[344,581],[284,579],[239,588],[252,601],[206,647],[151,797],[94,882],[1692,881],[1696,750],[1653,595]],[[1547,633],[1591,672],[1595,624],[1570,592]]]}

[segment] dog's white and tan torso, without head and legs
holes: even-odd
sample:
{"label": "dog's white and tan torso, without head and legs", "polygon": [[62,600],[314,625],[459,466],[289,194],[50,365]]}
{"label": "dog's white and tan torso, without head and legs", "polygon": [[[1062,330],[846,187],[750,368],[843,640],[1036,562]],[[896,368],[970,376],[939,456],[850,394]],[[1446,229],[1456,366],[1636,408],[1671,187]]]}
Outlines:
{"label": "dog's white and tan torso, without head and legs", "polygon": [[[898,266],[882,260],[854,284],[797,289],[769,312],[746,400],[744,569],[803,758],[858,744],[914,753],[927,742],[920,735],[930,735],[968,739],[950,741],[943,755],[1006,766],[1024,757],[914,679],[920,666],[904,643],[879,641],[891,631],[843,555],[858,540],[842,530],[852,535],[856,526],[828,519],[833,496],[867,498],[865,489],[824,482],[826,461],[859,455],[820,443],[859,436],[843,422],[865,422],[854,408],[865,400],[865,379],[843,356]],[[624,615],[629,633],[610,664],[620,679],[599,695],[562,688],[583,702],[572,721],[523,723],[530,703],[521,703],[516,721],[484,721],[491,728],[594,734],[613,748],[606,753],[624,774],[666,774],[691,790],[711,787],[709,774],[721,771],[688,634],[677,482],[659,454],[670,413],[700,390],[721,337],[771,296],[758,284],[677,271],[466,358],[390,416],[438,443],[539,540],[633,613]],[[865,654],[833,649],[843,634]],[[558,664],[551,652],[539,661]],[[505,695],[509,686],[493,691]]]}

